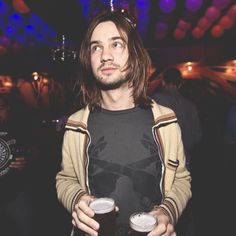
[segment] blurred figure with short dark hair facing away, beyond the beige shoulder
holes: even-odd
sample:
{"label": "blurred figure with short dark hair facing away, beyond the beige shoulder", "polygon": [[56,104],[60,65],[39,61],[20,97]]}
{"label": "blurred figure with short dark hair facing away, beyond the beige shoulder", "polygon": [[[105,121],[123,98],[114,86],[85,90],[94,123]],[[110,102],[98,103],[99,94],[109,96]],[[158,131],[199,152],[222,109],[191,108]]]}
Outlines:
{"label": "blurred figure with short dark hair facing away, beyond the beige shoulder", "polygon": [[197,106],[181,93],[183,77],[179,69],[167,68],[162,74],[161,85],[151,97],[160,105],[171,108],[181,128],[186,152],[187,167],[190,170],[191,156],[201,143],[202,127]]}

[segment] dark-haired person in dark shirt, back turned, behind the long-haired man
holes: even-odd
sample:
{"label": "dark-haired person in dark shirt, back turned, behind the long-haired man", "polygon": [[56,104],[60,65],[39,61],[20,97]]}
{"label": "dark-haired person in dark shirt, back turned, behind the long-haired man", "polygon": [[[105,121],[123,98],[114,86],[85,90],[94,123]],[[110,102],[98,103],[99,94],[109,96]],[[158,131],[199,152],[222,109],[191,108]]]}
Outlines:
{"label": "dark-haired person in dark shirt, back turned, behind the long-haired man", "polygon": [[[158,104],[169,107],[175,112],[182,132],[187,168],[190,171],[191,157],[200,145],[202,129],[196,105],[180,92],[182,82],[181,72],[175,67],[169,67],[162,74],[162,87],[151,96]],[[176,228],[178,235],[195,235],[192,201],[188,202]]]}

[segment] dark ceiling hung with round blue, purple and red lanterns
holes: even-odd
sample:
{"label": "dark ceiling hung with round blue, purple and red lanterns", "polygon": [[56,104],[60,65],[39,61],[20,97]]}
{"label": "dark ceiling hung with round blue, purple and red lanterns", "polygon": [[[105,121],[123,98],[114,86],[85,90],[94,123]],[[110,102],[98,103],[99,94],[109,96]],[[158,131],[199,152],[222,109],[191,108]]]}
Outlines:
{"label": "dark ceiling hung with round blue, purple and red lanterns", "polygon": [[44,61],[61,35],[76,50],[91,16],[111,5],[135,16],[150,51],[236,40],[235,0],[0,0],[0,71],[32,55]]}

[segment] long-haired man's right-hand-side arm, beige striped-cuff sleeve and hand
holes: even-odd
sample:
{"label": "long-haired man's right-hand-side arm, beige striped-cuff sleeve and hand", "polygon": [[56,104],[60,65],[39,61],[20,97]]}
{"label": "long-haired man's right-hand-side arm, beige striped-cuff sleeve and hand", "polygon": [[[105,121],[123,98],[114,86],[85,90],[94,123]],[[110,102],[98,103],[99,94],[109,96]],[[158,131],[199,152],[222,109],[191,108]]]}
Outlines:
{"label": "long-haired man's right-hand-side arm, beige striped-cuff sleeve and hand", "polygon": [[174,225],[182,214],[191,197],[190,173],[186,169],[185,154],[180,128],[176,123],[168,125],[168,132],[162,128],[162,148],[165,171],[163,180],[164,198],[159,206],[155,206],[151,214],[158,218],[156,229],[151,235],[175,235]]}

